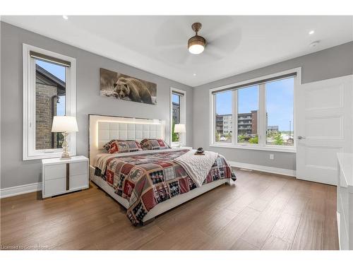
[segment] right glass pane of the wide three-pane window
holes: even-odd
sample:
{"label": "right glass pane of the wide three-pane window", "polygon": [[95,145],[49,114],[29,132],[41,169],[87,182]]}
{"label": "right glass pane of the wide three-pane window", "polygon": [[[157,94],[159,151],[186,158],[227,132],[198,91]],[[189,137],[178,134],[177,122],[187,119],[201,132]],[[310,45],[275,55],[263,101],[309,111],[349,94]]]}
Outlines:
{"label": "right glass pane of the wide three-pane window", "polygon": [[265,84],[266,144],[293,146],[294,77]]}

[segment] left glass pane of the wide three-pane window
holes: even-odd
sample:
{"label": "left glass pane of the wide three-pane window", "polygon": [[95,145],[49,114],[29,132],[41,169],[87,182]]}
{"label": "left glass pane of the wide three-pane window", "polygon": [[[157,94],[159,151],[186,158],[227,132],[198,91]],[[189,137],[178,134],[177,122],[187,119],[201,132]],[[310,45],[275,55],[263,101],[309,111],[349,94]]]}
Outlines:
{"label": "left glass pane of the wide three-pane window", "polygon": [[215,141],[232,143],[232,91],[215,94]]}

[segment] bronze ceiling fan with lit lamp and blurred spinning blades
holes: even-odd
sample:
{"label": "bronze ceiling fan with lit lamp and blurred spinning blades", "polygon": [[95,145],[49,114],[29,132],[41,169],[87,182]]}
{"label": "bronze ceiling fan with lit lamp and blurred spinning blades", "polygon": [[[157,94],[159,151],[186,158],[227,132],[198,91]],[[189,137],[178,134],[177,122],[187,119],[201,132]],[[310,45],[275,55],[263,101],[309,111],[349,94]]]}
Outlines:
{"label": "bronze ceiling fan with lit lamp and blurred spinning blades", "polygon": [[[195,34],[192,37],[191,30],[186,27],[190,23],[188,17],[182,22],[178,18],[167,20],[156,35],[155,45],[159,48],[160,58],[175,64],[208,64],[227,57],[237,48],[241,29],[231,18],[203,19],[203,24],[191,23]],[[201,28],[202,36],[199,35]]]}

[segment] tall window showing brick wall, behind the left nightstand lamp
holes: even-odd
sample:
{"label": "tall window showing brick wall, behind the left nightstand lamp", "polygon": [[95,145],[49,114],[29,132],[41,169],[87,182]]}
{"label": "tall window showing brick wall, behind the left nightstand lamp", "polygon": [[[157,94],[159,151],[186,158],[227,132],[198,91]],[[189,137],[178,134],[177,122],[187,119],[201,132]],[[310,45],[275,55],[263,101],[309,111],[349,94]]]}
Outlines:
{"label": "tall window showing brick wall, behind the left nightstand lamp", "polygon": [[[76,115],[76,59],[23,45],[23,160],[61,155],[54,116]],[[76,134],[68,137],[76,154]]]}

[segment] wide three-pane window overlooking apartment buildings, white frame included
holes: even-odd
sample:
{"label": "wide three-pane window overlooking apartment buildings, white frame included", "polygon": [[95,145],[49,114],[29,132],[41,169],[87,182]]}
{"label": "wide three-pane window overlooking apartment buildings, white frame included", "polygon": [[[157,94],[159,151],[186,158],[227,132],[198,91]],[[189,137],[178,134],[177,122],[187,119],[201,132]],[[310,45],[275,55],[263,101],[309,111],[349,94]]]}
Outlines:
{"label": "wide three-pane window overlooking apartment buildings, white frame included", "polygon": [[210,90],[211,146],[294,149],[294,86],[300,69]]}

